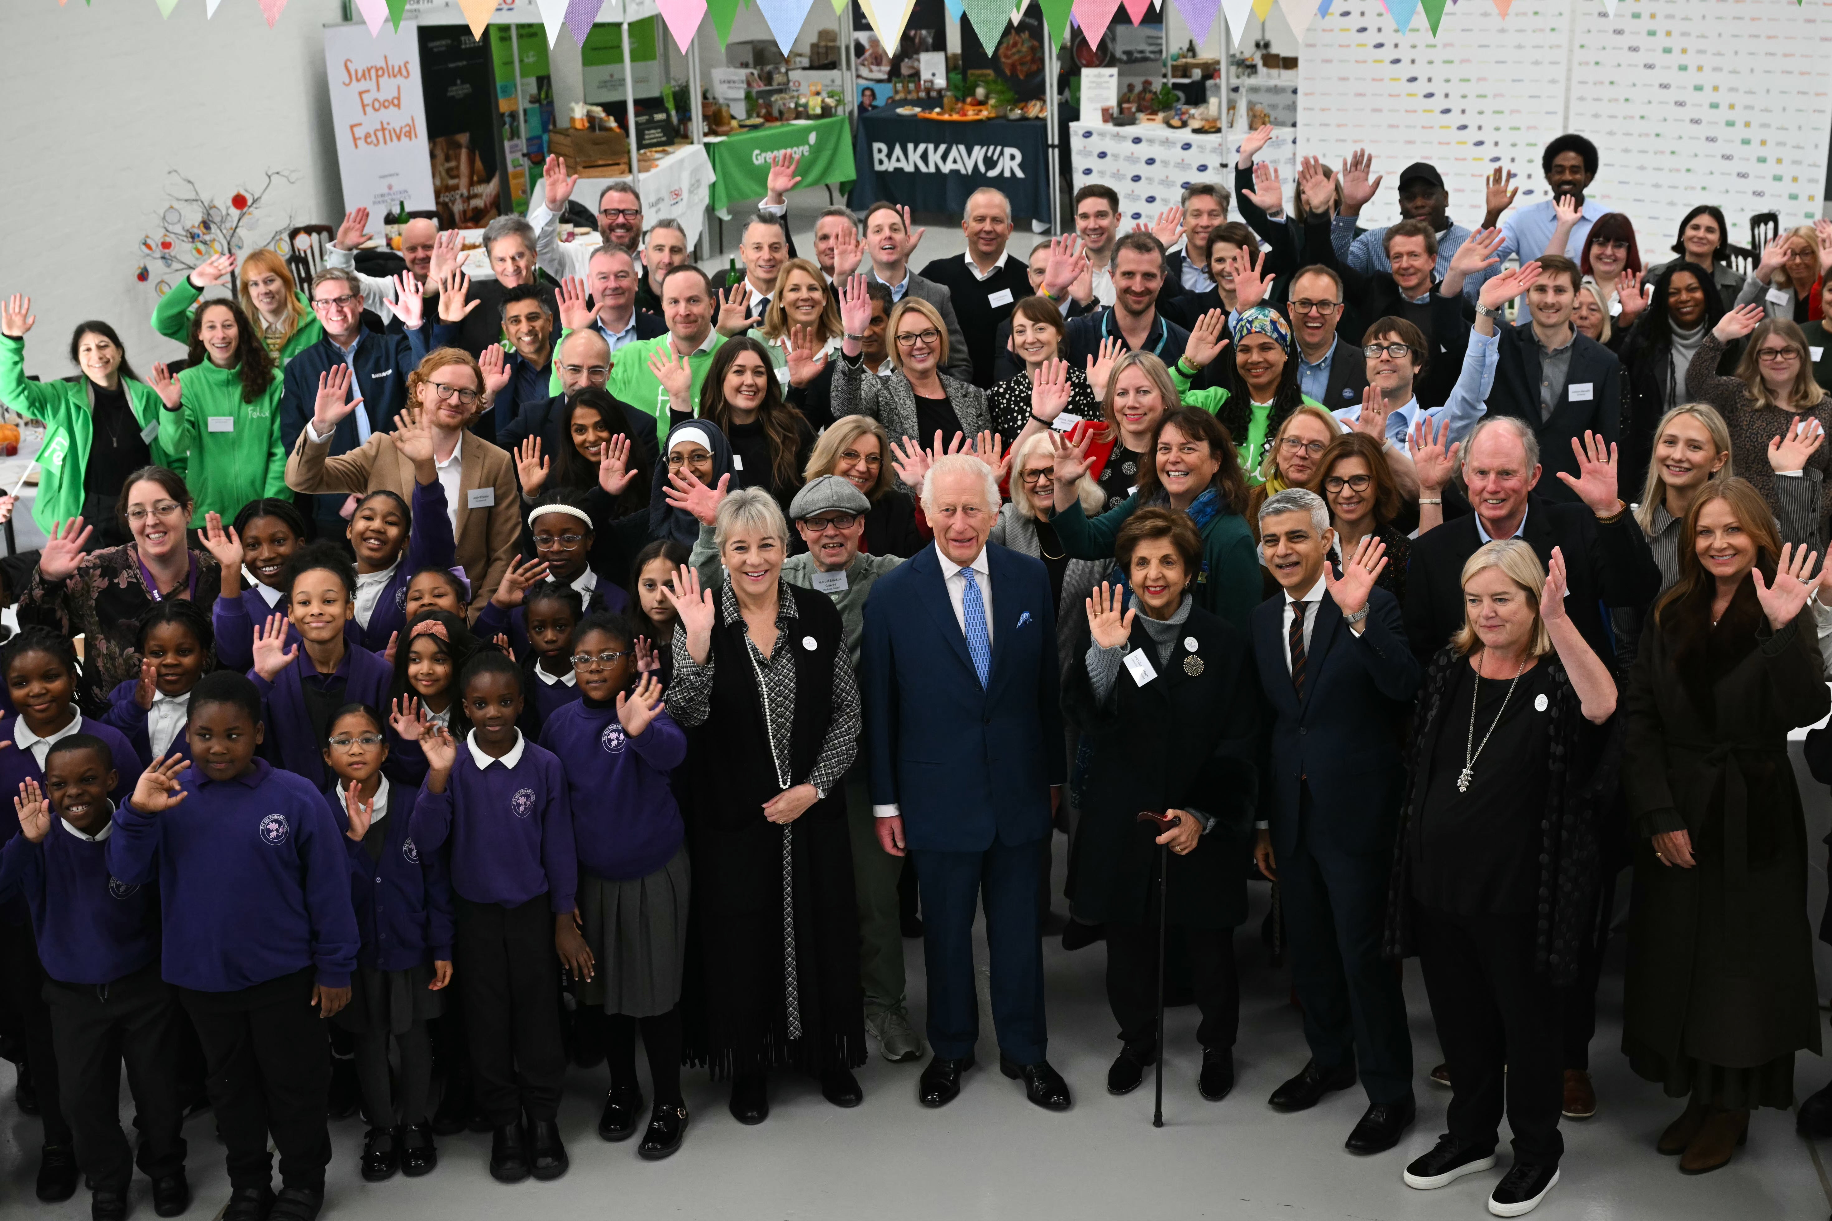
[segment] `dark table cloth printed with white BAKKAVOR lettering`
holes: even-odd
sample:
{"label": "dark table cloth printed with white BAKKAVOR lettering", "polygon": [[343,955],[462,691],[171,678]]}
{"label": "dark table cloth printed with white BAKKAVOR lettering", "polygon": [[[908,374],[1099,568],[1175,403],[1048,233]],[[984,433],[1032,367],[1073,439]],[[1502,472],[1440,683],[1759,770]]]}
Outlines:
{"label": "dark table cloth printed with white BAKKAVOR lettering", "polygon": [[872,110],[859,115],[859,179],[852,209],[885,200],[912,212],[965,212],[967,196],[997,187],[1011,218],[1050,220],[1050,130],[1042,119],[943,123]]}

